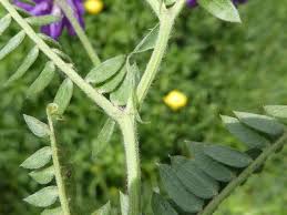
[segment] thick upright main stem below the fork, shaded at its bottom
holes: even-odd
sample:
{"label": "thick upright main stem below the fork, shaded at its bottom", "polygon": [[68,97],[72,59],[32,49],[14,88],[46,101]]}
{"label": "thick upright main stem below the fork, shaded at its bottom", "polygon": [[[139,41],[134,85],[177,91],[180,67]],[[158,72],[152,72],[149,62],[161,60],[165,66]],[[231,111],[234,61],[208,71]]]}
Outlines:
{"label": "thick upright main stem below the fork, shaded at its bottom", "polygon": [[119,121],[125,147],[127,171],[129,215],[141,214],[141,166],[136,122],[133,114],[126,114]]}

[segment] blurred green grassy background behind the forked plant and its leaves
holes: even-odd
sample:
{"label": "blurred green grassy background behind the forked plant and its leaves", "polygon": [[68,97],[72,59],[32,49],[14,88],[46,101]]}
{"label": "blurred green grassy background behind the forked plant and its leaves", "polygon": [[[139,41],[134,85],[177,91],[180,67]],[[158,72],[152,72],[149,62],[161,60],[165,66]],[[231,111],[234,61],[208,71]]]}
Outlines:
{"label": "blurred green grassy background behind the forked plant and its leaves", "polygon": [[[185,154],[184,140],[209,141],[238,146],[221,123],[219,114],[232,110],[262,112],[263,104],[287,103],[287,8],[286,0],[249,0],[240,6],[242,24],[222,22],[201,9],[186,8],[176,22],[161,73],[142,111],[148,123],[140,125],[144,192],[157,186],[156,162],[168,154]],[[99,16],[86,14],[86,32],[102,59],[129,53],[156,20],[144,1],[104,0]],[[0,10],[3,14],[3,10]],[[0,47],[18,30],[14,25],[0,38]],[[84,75],[91,63],[76,38],[62,35],[61,43]],[[0,85],[13,73],[31,43],[0,63]],[[142,70],[148,54],[139,59]],[[43,61],[44,57],[41,57]],[[25,90],[39,73],[38,62],[28,75],[10,89],[0,88],[0,214],[35,215],[40,209],[22,198],[40,188],[19,167],[21,162],[47,143],[27,129],[22,114],[44,120],[45,104],[52,101],[58,76],[45,93],[28,100]],[[188,105],[174,112],[163,102],[172,90],[188,96]],[[125,187],[123,146],[119,131],[96,161],[91,145],[104,116],[79,90],[58,139],[69,161],[70,185],[81,214],[112,199]],[[218,215],[286,215],[287,150],[267,162],[263,174],[253,176],[218,209]]]}

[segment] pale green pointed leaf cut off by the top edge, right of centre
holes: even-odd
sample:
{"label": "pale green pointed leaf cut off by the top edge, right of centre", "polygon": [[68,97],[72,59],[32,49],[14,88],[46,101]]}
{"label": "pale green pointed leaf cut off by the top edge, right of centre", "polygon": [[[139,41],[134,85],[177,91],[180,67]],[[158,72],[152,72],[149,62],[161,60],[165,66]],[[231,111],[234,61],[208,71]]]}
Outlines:
{"label": "pale green pointed leaf cut off by the top edge, right of centre", "polygon": [[201,7],[213,16],[229,22],[242,22],[239,13],[232,0],[198,0]]}

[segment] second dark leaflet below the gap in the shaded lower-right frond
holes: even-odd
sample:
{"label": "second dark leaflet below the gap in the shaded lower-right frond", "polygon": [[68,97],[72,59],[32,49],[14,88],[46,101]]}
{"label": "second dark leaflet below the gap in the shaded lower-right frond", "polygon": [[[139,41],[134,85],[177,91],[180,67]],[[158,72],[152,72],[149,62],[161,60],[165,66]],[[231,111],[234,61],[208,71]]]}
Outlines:
{"label": "second dark leaflet below the gap in the shaded lower-right frond", "polygon": [[203,143],[187,142],[187,147],[195,157],[195,164],[211,177],[219,182],[229,182],[235,177],[229,168],[204,154]]}

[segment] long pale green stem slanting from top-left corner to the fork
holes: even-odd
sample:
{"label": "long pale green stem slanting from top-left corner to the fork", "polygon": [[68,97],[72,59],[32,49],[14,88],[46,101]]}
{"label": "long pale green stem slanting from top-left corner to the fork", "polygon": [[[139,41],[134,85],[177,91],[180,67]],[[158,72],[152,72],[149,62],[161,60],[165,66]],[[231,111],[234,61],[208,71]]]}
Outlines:
{"label": "long pale green stem slanting from top-left corner to the fork", "polygon": [[94,103],[102,108],[107,115],[115,119],[121,111],[115,108],[105,96],[100,94],[92,85],[86,83],[68,63],[49,48],[49,45],[37,35],[34,30],[17,12],[8,0],[1,0],[6,10],[12,16],[17,23],[25,31],[27,35],[39,47],[39,49],[69,78],[73,81]]}

